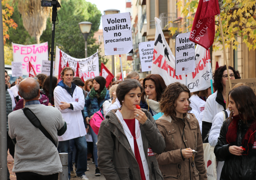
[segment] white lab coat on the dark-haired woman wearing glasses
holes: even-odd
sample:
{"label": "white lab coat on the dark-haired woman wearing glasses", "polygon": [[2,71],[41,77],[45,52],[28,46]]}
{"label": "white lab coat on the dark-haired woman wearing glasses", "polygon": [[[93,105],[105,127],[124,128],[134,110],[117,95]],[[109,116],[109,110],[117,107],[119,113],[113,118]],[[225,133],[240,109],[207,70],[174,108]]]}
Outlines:
{"label": "white lab coat on the dark-haired woman wearing glasses", "polygon": [[214,116],[224,110],[223,106],[215,101],[216,97],[217,91],[207,98],[202,121],[212,123]]}

